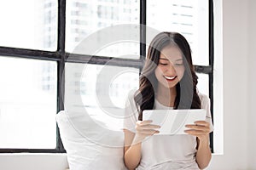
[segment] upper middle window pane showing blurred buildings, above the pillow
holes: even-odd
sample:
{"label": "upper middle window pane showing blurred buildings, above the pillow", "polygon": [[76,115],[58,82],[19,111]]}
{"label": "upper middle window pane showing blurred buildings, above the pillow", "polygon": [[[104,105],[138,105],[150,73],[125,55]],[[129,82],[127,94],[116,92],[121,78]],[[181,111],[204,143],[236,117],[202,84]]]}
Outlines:
{"label": "upper middle window pane showing blurred buildings, above the pillow", "polygon": [[[73,1],[67,0],[67,20],[66,20],[66,50],[77,54],[90,54],[85,45],[83,51],[78,51],[75,48],[79,43],[86,41],[86,38],[95,35],[96,32],[101,32],[102,29],[108,26],[116,26],[120,24],[133,24],[140,23],[140,2],[137,0],[89,0],[89,1]],[[114,29],[114,28],[113,28]],[[129,30],[128,30],[129,31]],[[116,36],[113,31],[105,33],[97,37],[93,42],[108,41],[106,38],[109,34],[112,37]],[[124,31],[125,32],[125,31]],[[93,53],[94,55],[113,56],[118,58],[139,59],[139,28],[137,27],[136,33],[130,32],[130,39],[136,39],[137,42],[108,42],[104,47],[99,47]],[[89,42],[91,43],[91,41]],[[111,47],[110,47],[111,46]],[[102,48],[107,48],[102,50]],[[115,49],[115,50],[113,50]],[[90,49],[89,49],[90,50]],[[96,54],[97,50],[101,50],[100,54]],[[128,51],[127,55],[123,50]],[[126,55],[126,56],[125,56]]]}

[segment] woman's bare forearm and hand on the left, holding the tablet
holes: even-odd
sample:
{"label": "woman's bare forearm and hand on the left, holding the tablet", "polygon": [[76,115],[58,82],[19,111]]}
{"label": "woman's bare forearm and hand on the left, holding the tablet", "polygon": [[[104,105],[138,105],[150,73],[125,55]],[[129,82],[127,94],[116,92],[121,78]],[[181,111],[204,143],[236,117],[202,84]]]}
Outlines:
{"label": "woman's bare forearm and hand on the left, holding the tablet", "polygon": [[124,129],[125,133],[125,166],[128,169],[135,169],[142,157],[142,142],[147,136],[159,133],[154,130],[160,128],[160,126],[150,124],[152,121],[138,121],[136,123],[136,133]]}

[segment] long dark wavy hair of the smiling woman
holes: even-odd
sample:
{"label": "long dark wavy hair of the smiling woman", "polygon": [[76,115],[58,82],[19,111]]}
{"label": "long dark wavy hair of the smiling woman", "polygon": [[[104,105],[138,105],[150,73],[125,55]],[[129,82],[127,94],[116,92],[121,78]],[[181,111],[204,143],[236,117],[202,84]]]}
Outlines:
{"label": "long dark wavy hair of the smiling woman", "polygon": [[201,109],[201,100],[196,88],[198,77],[192,63],[189,42],[177,32],[160,32],[149,45],[147,59],[139,78],[139,89],[134,95],[139,111],[138,120],[143,120],[144,110],[152,110],[154,107],[154,92],[158,86],[154,71],[159,64],[160,51],[169,45],[180,48],[185,67],[183,78],[176,85],[177,96],[174,109]]}

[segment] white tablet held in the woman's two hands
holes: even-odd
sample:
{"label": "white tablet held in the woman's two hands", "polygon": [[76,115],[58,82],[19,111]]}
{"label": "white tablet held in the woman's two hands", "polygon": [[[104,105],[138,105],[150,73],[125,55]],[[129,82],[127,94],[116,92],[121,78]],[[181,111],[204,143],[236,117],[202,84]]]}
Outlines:
{"label": "white tablet held in the woman's two hands", "polygon": [[187,134],[186,124],[195,124],[195,121],[205,121],[207,111],[193,110],[145,110],[143,121],[152,120],[152,124],[160,125],[160,133],[156,134]]}

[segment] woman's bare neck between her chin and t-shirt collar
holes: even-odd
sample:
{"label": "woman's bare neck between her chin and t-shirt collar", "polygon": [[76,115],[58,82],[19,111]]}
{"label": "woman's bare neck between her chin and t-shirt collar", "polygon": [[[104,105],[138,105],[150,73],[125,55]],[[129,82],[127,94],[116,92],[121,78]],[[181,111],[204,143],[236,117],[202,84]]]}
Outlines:
{"label": "woman's bare neck between her chin and t-shirt collar", "polygon": [[176,87],[166,88],[159,83],[156,90],[155,99],[157,99],[162,105],[173,107],[176,95]]}

